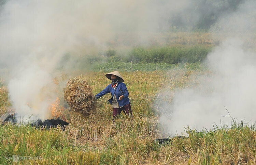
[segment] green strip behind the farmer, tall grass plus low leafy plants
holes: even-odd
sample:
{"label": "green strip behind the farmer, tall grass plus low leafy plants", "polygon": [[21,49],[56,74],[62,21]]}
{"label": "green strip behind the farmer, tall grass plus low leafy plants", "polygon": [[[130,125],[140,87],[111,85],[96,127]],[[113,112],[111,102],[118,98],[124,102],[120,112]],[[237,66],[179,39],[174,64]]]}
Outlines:
{"label": "green strip behind the farmer, tall grass plus low leafy plants", "polygon": [[203,62],[211,50],[211,46],[137,47],[127,55],[108,50],[105,56],[90,56],[86,60],[94,71],[202,70],[206,68]]}

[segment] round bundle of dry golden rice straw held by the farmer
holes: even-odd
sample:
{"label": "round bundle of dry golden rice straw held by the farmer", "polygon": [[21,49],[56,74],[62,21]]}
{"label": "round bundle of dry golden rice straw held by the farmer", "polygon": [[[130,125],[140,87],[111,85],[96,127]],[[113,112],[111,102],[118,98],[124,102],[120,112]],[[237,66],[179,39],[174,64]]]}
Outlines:
{"label": "round bundle of dry golden rice straw held by the farmer", "polygon": [[96,98],[93,90],[82,75],[69,79],[63,93],[70,108],[75,112],[87,115],[95,109]]}

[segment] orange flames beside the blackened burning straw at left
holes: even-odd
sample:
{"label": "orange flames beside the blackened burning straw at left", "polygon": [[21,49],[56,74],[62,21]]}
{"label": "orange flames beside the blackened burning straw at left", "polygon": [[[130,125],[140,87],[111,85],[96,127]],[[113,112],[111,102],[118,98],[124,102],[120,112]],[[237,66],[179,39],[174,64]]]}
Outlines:
{"label": "orange flames beside the blackened burning straw at left", "polygon": [[57,97],[55,100],[55,103],[51,104],[49,106],[50,112],[52,112],[51,116],[53,118],[62,118],[63,120],[66,120],[64,116],[64,107],[60,105],[60,99]]}

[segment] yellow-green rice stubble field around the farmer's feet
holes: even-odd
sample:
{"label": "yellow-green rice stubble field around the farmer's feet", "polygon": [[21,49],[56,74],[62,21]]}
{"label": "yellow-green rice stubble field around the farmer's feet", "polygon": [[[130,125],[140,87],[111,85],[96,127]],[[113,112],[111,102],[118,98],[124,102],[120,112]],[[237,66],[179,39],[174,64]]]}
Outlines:
{"label": "yellow-green rice stubble field around the farmer's feet", "polygon": [[[196,85],[195,76],[207,70],[168,70],[122,72],[129,90],[133,117],[123,113],[112,122],[107,99],[98,100],[94,113],[86,117],[70,110],[62,112],[70,123],[61,128],[35,129],[30,125],[0,126],[1,164],[13,164],[12,155],[40,156],[42,160],[22,160],[24,164],[254,164],[256,132],[242,123],[211,131],[184,126],[186,138],[173,138],[159,145],[156,138],[168,135],[160,125],[154,100],[161,90]],[[110,82],[104,72],[85,75],[97,94]],[[1,86],[1,115],[8,111],[8,91]],[[63,99],[63,98],[60,98]],[[171,98],[170,98],[171,99]]]}

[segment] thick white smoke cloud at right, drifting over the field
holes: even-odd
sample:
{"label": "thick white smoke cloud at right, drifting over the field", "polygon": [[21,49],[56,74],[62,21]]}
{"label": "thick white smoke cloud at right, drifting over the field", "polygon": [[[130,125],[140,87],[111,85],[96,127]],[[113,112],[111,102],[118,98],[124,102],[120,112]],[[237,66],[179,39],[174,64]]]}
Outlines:
{"label": "thick white smoke cloud at right, drifting over the field", "polygon": [[196,87],[159,94],[155,108],[169,135],[184,133],[187,126],[209,130],[215,124],[229,125],[231,117],[255,123],[256,54],[244,44],[255,33],[255,6],[255,1],[246,1],[236,12],[222,16],[218,28],[212,29],[225,37],[208,54],[211,74],[191,76],[191,82],[197,81]]}

